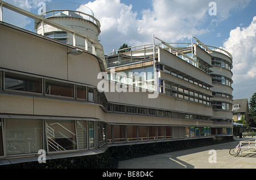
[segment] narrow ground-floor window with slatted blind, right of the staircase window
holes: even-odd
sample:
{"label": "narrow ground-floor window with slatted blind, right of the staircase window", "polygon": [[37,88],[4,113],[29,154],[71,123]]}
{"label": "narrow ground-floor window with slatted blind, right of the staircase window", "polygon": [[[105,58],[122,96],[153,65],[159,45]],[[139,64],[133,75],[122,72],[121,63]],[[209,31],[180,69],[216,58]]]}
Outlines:
{"label": "narrow ground-floor window with slatted blind, right of the staircase window", "polygon": [[77,144],[79,149],[87,149],[87,125],[86,121],[76,122]]}

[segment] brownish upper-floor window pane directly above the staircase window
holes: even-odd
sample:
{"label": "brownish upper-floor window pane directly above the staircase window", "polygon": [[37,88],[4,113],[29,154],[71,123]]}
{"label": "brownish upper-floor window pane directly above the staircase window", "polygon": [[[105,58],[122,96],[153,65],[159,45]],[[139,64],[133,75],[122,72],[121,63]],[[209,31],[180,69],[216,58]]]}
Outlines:
{"label": "brownish upper-floor window pane directly above the staircase window", "polygon": [[46,94],[74,97],[74,85],[46,79]]}

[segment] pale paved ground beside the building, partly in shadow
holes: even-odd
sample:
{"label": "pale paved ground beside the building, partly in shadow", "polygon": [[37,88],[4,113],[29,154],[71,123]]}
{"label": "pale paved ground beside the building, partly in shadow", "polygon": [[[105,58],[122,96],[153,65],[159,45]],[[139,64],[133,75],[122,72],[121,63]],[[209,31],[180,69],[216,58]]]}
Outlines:
{"label": "pale paved ground beside the building, partly in shadow", "polygon": [[[119,161],[118,169],[256,169],[256,154],[245,154],[242,157],[229,154],[229,149],[249,139],[255,137],[235,138],[236,141],[231,143]],[[212,149],[216,150],[216,158],[214,153],[209,154]]]}

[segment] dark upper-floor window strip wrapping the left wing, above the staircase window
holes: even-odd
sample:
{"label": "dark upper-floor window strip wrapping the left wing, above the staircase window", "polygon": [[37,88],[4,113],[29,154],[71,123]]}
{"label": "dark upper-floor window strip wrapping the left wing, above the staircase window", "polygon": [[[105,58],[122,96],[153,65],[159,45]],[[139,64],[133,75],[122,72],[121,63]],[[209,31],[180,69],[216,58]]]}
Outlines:
{"label": "dark upper-floor window strip wrapping the left wing, above the staircase window", "polygon": [[0,72],[1,90],[45,95],[58,98],[79,99],[102,104],[102,98],[94,87],[64,81]]}

